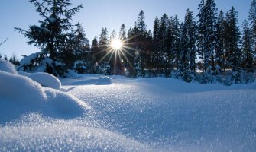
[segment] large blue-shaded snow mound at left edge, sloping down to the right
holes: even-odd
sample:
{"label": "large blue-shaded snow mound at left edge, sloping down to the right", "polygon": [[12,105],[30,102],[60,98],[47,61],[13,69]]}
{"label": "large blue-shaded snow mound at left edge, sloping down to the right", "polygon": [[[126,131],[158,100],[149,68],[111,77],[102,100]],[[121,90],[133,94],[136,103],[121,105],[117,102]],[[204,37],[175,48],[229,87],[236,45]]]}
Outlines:
{"label": "large blue-shaded snow mound at left edge, sloping down to the right", "polygon": [[0,71],[0,124],[30,112],[43,116],[74,118],[90,109],[86,103],[68,93],[44,88],[31,78]]}

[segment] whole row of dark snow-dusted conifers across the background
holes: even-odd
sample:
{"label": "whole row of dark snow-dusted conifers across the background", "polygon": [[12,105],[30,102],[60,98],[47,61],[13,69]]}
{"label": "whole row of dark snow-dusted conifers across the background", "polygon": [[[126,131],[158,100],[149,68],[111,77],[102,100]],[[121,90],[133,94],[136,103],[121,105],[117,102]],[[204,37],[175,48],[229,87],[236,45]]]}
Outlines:
{"label": "whole row of dark snow-dusted conifers across the background", "polygon": [[[83,5],[68,9],[70,0],[30,0],[44,20],[29,30],[15,27],[42,51],[21,59],[24,71],[47,71],[64,76],[78,73],[124,74],[137,77],[179,78],[187,82],[222,84],[253,80],[256,52],[256,0],[248,21],[238,26],[238,11],[218,11],[214,0],[201,0],[199,13],[186,10],[184,21],[177,16],[156,17],[153,31],[147,30],[141,11],[134,27],[120,27],[109,36],[102,28],[89,45],[81,24],[70,20]],[[120,52],[112,53],[110,42],[120,39]],[[114,54],[114,55],[113,55]]]}

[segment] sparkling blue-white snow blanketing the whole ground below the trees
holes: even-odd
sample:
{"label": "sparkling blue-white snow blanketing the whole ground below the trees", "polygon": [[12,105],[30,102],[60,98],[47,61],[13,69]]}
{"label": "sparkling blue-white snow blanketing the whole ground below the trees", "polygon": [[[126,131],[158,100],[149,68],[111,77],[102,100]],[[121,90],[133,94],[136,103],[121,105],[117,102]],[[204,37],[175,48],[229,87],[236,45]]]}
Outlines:
{"label": "sparkling blue-white snow blanketing the whole ground below the trees", "polygon": [[60,81],[54,90],[0,71],[0,151],[256,151],[256,84]]}

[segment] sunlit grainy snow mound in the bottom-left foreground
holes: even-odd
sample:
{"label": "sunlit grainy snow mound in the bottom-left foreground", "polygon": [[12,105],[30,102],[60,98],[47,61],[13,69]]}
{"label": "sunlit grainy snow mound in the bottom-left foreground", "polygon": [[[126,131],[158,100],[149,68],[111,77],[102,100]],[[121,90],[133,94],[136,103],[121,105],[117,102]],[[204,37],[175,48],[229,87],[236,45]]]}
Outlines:
{"label": "sunlit grainy snow mound in the bottom-left foreground", "polygon": [[147,144],[93,127],[88,120],[31,115],[21,121],[15,127],[0,126],[0,151],[151,151]]}

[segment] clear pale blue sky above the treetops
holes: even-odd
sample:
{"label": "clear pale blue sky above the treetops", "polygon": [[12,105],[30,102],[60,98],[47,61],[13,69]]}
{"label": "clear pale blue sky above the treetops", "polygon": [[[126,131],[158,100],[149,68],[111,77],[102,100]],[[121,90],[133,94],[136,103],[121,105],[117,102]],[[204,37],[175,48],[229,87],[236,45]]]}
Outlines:
{"label": "clear pale blue sky above the treetops", "polygon": [[[147,29],[152,30],[154,18],[164,13],[168,16],[178,15],[183,21],[186,9],[190,8],[195,14],[200,0],[73,0],[73,6],[83,4],[84,8],[73,17],[73,24],[80,22],[89,42],[94,36],[99,36],[102,27],[107,27],[109,35],[112,30],[117,33],[122,24],[126,29],[134,27],[141,10],[145,12]],[[218,11],[228,11],[232,6],[238,11],[239,23],[248,19],[251,0],[215,0]],[[27,45],[27,39],[11,27],[21,27],[28,30],[29,25],[39,25],[41,19],[35,11],[34,5],[28,0],[1,0],[0,2],[0,43],[9,37],[7,42],[0,46],[2,55],[15,54],[30,55],[39,50]]]}

